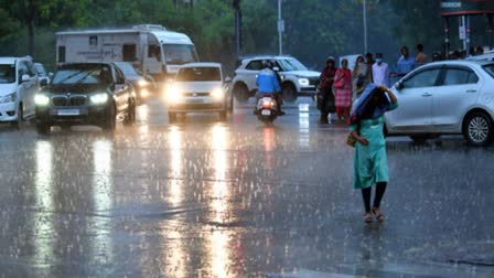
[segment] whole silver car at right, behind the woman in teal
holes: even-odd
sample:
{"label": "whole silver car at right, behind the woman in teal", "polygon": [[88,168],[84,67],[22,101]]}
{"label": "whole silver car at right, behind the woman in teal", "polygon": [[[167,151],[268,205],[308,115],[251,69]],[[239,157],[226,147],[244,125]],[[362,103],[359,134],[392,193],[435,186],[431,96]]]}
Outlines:
{"label": "whole silver car at right, behind the woman in teal", "polygon": [[388,135],[412,139],[462,133],[473,146],[494,135],[494,63],[448,61],[421,66],[391,89],[399,107],[386,114]]}

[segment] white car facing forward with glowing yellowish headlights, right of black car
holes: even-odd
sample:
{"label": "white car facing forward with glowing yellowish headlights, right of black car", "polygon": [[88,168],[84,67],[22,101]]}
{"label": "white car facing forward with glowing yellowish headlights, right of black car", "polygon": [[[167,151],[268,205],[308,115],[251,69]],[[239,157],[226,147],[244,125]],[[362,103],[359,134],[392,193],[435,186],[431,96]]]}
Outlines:
{"label": "white car facing forward with glowing yellowish headlights, right of black car", "polygon": [[170,121],[178,114],[218,113],[222,120],[233,111],[233,97],[227,89],[222,65],[191,63],[182,65],[172,84],[167,86],[167,108]]}

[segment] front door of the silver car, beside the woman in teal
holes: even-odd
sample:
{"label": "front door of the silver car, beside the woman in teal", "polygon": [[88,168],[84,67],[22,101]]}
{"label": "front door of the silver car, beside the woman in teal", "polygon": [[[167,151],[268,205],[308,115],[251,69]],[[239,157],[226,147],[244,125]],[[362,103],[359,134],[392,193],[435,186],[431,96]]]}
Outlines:
{"label": "front door of the silver car, beside the woman in teal", "polygon": [[398,109],[386,114],[388,131],[427,132],[432,130],[432,96],[436,94],[441,67],[415,72],[395,86]]}

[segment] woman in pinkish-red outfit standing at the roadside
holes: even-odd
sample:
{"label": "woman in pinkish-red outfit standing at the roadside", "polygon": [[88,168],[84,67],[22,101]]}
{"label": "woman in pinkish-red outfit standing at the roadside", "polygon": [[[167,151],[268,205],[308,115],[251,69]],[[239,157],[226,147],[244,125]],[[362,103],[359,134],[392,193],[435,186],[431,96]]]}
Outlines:
{"label": "woman in pinkish-red outfit standing at the roadside", "polygon": [[342,67],[336,71],[333,86],[337,118],[348,119],[352,107],[352,72],[346,58],[342,60]]}

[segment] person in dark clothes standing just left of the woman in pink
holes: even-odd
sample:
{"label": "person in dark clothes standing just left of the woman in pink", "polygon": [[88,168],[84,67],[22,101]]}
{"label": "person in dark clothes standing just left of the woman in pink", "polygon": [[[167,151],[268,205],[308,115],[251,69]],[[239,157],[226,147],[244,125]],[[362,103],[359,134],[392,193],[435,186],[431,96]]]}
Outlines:
{"label": "person in dark clothes standing just left of the woman in pink", "polygon": [[334,108],[334,95],[333,95],[333,82],[336,74],[336,63],[334,57],[326,58],[326,66],[322,70],[321,90],[318,94],[318,109],[321,111],[321,124],[329,124],[327,116],[335,111]]}

